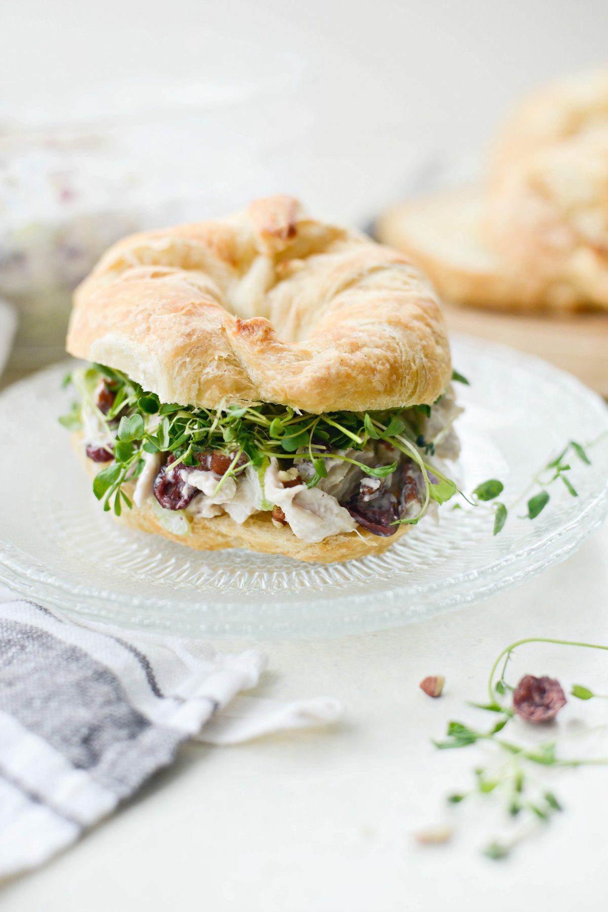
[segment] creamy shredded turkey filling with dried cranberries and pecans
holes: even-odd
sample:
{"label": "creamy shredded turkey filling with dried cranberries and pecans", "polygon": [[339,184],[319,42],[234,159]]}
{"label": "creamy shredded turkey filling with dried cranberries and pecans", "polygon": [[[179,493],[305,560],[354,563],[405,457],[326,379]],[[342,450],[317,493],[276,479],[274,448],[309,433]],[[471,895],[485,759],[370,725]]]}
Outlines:
{"label": "creamy shredded turkey filling with dried cranberries and pecans", "polygon": [[[153,493],[165,510],[187,510],[192,516],[211,518],[228,513],[235,523],[244,523],[254,513],[272,510],[273,523],[289,526],[304,542],[321,542],[330,535],[350,533],[361,525],[376,535],[393,535],[398,521],[414,515],[422,502],[424,489],[416,463],[401,458],[397,469],[386,478],[375,478],[348,459],[364,465],[387,465],[399,454],[380,441],[365,451],[346,450],[344,459],[327,458],[327,475],[312,488],[306,482],[314,475],[314,466],[303,456],[294,465],[282,469],[271,459],[263,472],[243,460],[225,477],[211,468],[230,467],[233,457],[200,453],[199,467],[184,466],[175,458],[159,467],[159,454],[148,456],[135,491],[135,502]],[[154,475],[154,472],[156,474]]]}

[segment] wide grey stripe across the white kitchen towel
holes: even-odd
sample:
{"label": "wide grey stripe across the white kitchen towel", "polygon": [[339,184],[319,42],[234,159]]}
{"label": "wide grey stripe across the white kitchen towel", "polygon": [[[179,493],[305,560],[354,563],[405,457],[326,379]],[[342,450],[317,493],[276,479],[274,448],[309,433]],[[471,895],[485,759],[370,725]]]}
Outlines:
{"label": "wide grey stripe across the white kitchen towel", "polygon": [[0,619],[0,707],[119,797],[171,761],[184,734],[153,725],[88,652]]}

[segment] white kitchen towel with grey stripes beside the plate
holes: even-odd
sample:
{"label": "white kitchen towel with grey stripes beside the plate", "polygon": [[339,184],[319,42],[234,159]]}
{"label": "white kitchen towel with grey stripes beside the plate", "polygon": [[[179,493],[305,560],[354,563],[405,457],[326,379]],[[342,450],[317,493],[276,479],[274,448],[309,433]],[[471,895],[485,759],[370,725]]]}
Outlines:
{"label": "white kitchen towel with grey stripes beside the plate", "polygon": [[172,762],[182,741],[234,744],[341,715],[330,698],[236,697],[260,678],[259,652],[84,627],[3,594],[0,877],[74,842]]}

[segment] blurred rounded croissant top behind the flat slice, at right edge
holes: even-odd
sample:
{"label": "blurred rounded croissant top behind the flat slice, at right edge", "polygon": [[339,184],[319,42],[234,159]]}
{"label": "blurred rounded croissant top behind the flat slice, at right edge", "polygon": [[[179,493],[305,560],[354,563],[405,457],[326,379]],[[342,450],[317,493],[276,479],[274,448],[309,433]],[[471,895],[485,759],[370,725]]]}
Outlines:
{"label": "blurred rounded croissant top behind the flat slice, at right edge", "polygon": [[486,241],[553,306],[608,306],[608,69],[525,98],[495,144]]}

